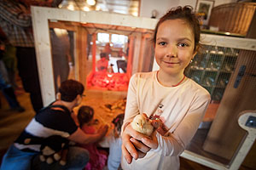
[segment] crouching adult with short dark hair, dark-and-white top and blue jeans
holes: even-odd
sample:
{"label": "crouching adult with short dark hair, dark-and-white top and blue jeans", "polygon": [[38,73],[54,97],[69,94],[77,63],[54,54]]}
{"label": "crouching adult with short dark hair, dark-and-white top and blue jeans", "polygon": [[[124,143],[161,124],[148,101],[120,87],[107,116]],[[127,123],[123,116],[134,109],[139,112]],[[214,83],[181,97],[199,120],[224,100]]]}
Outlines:
{"label": "crouching adult with short dark hair, dark-and-white top and blue jeans", "polygon": [[[0,169],[83,169],[89,161],[89,153],[84,148],[78,146],[69,146],[67,152],[67,163],[61,166],[59,162],[54,161],[47,164],[40,161],[40,146],[44,139],[54,135],[59,135],[79,144],[90,144],[102,139],[108,132],[108,126],[102,126],[97,133],[87,134],[78,127],[74,121],[76,117],[73,108],[80,105],[84,92],[82,83],[67,80],[61,83],[59,88],[60,99],[53,102],[48,107],[39,111],[38,114],[27,125],[20,137],[9,147],[7,153],[3,156]],[[26,143],[26,139],[42,139],[42,143]],[[56,140],[55,143],[58,141]]]}

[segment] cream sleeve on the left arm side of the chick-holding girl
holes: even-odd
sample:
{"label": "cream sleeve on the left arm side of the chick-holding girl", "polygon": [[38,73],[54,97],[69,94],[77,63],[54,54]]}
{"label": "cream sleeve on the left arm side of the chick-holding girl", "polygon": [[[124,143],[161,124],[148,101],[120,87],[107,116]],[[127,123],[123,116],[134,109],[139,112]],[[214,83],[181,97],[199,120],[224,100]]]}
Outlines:
{"label": "cream sleeve on the left arm side of the chick-holding girl", "polygon": [[129,82],[126,106],[125,106],[125,118],[123,122],[122,132],[127,122],[131,122],[135,116],[139,114],[137,104],[137,74],[134,74]]}

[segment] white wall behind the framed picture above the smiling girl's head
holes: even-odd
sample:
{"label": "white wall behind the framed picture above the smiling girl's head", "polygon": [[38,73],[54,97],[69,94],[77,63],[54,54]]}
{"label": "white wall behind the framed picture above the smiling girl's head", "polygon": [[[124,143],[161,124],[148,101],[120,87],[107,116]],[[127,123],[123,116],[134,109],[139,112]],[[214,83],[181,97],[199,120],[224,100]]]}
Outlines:
{"label": "white wall behind the framed picture above the smiling girl's head", "polygon": [[[224,3],[236,3],[236,0],[214,0],[214,6]],[[167,10],[177,6],[190,5],[195,8],[196,0],[141,0],[140,16],[151,17],[152,11],[158,11],[156,18],[166,14]]]}

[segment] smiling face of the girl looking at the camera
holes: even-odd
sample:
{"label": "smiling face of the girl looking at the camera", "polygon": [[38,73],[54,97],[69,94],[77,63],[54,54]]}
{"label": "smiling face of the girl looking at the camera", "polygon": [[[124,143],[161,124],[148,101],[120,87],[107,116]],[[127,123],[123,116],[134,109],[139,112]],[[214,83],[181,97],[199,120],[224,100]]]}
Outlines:
{"label": "smiling face of the girl looking at the camera", "polygon": [[169,75],[183,74],[196,52],[194,33],[184,20],[166,20],[160,24],[154,47],[160,71]]}

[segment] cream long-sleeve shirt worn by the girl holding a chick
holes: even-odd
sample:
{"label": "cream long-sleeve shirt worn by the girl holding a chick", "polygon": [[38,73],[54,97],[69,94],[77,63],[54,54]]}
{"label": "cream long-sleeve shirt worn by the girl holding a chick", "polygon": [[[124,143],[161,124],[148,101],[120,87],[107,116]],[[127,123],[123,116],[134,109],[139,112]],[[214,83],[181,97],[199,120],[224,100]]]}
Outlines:
{"label": "cream long-sleeve shirt worn by the girl holding a chick", "polygon": [[178,156],[195,135],[210,102],[210,94],[191,79],[177,87],[164,87],[157,80],[157,71],[137,73],[131,77],[125,120],[131,122],[137,114],[160,115],[168,133],[157,133],[158,148],[149,150],[142,159],[127,164],[122,158],[122,168],[179,169]]}

